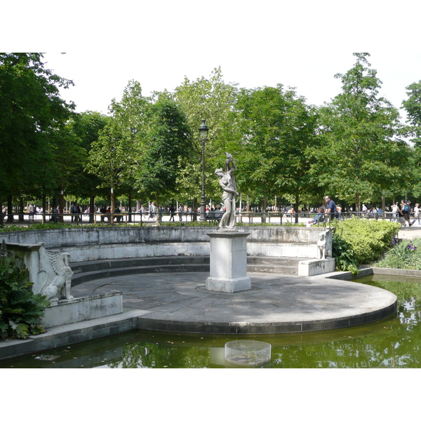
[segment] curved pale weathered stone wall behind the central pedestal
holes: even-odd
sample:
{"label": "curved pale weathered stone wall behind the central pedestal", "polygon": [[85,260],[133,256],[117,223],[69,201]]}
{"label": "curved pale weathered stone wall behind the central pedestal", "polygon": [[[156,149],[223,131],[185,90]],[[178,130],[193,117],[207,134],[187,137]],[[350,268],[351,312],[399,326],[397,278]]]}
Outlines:
{"label": "curved pale weathered stone wall behind the central pedestal", "polygon": [[[2,232],[6,243],[46,243],[65,250],[73,262],[156,255],[207,255],[211,227],[86,227]],[[250,232],[248,255],[316,258],[319,227],[239,227]]]}

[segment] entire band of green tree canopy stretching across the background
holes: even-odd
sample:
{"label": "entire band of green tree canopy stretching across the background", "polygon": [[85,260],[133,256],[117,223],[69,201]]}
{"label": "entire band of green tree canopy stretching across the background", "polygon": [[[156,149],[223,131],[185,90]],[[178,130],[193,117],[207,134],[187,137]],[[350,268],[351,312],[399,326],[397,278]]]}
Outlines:
{"label": "entire band of green tree canopy stretching across the background", "polygon": [[75,113],[60,98],[60,88],[73,83],[46,69],[41,53],[0,53],[0,202],[65,190],[90,196],[93,206],[106,188],[195,206],[202,119],[209,128],[208,200],[219,201],[214,171],[225,152],[236,159],[239,192],[263,208],[275,197],[298,208],[318,206],[330,194],[359,209],[361,201],[379,203],[382,195],[421,194],[421,81],[406,88],[405,126],[380,95],[370,55],[354,56],[352,68],[335,75],[340,93],[321,107],[282,83],[239,88],[216,68],[149,97],[139,81],[128,81],[103,116]]}

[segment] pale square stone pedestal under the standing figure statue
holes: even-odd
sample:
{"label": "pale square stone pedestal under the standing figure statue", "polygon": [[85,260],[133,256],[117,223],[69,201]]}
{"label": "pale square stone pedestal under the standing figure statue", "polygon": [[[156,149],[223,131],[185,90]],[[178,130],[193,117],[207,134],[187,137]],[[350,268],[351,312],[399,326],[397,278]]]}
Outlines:
{"label": "pale square stone pedestal under the standing figure statue", "polygon": [[251,289],[247,276],[248,232],[212,232],[210,237],[210,276],[206,289],[238,293]]}

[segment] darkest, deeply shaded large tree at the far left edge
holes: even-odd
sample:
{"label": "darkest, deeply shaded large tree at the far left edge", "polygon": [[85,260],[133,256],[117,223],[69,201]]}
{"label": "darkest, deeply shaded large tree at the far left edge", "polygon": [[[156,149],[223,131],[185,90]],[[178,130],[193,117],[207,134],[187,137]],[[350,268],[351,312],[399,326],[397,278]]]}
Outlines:
{"label": "darkest, deeply shaded large tree at the far left edge", "polygon": [[72,81],[45,69],[42,58],[0,53],[0,202],[2,194],[51,183],[57,133],[74,109],[59,95]]}

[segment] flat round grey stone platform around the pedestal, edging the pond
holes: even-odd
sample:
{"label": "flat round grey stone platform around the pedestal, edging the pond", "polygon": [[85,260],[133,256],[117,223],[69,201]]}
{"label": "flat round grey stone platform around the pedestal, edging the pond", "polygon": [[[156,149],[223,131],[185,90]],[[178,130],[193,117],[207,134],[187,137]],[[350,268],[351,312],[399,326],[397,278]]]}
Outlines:
{"label": "flat round grey stone platform around the pedestal, edging the pond", "polygon": [[72,295],[122,291],[123,311],[140,310],[138,328],[178,333],[300,333],[347,328],[396,312],[396,295],[362,283],[323,276],[248,276],[251,290],[239,293],[208,291],[208,274],[189,272],[88,281],[72,287]]}

